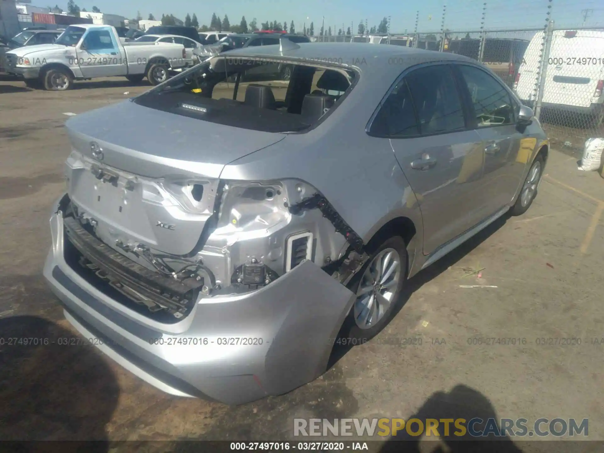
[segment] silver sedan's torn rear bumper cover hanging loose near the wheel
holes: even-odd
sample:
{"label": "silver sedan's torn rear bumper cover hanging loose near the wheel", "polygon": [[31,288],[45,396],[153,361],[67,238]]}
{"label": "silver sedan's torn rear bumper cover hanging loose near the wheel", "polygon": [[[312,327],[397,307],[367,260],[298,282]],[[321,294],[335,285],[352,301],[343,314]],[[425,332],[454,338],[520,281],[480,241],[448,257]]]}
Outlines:
{"label": "silver sedan's torn rear bumper cover hanging loose near the wheel", "polygon": [[81,277],[65,260],[62,213],[50,223],[43,274],[68,321],[124,368],[179,396],[240,404],[312,381],[355,298],[306,261],[257,291],[199,298],[181,321],[159,323]]}

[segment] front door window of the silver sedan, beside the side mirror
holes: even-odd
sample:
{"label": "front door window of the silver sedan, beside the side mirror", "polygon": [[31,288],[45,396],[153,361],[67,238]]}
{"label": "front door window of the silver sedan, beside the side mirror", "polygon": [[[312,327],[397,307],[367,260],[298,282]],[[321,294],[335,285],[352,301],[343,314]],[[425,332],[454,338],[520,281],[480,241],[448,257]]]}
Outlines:
{"label": "front door window of the silver sedan, beside the side mirror", "polygon": [[494,77],[473,66],[459,65],[474,104],[478,127],[514,123],[512,98]]}

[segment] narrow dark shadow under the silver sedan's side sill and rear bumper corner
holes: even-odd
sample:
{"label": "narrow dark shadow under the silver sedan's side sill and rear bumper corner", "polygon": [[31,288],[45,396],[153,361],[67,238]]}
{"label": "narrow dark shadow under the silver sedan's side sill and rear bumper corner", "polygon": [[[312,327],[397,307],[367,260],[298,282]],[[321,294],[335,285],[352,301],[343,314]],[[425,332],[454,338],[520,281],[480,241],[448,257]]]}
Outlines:
{"label": "narrow dark shadow under the silver sedan's side sill and rear bumper corner", "polygon": [[[403,286],[402,294],[400,295],[399,300],[396,303],[396,307],[394,307],[394,316],[396,316],[402,307],[405,306],[407,301],[411,298],[411,295],[420,289],[423,284],[428,283],[432,279],[438,277],[440,274],[445,272],[449,267],[454,266],[455,263],[463,259],[463,257],[469,254],[472,250],[477,248],[481,243],[483,243],[486,239],[489,238],[495,231],[499,230],[502,226],[504,226],[507,220],[510,218],[509,214],[506,214],[499,219],[495,220],[495,222],[491,223],[489,226],[484,228],[484,230],[480,231],[480,233],[473,236],[471,239],[467,240],[453,251],[446,254],[442,259],[435,262],[433,265],[429,266],[423,271],[418,272],[412,278],[406,281],[405,286]],[[387,326],[388,324],[386,324]],[[385,326],[384,326],[385,327]],[[338,333],[338,338],[345,337],[343,332]],[[333,346],[332,354],[329,358],[329,364],[327,365],[327,369],[329,370],[333,365],[335,365],[339,359],[344,357],[347,352],[352,349],[354,345],[351,345],[350,342],[344,341],[342,344],[338,344],[337,342]]]}

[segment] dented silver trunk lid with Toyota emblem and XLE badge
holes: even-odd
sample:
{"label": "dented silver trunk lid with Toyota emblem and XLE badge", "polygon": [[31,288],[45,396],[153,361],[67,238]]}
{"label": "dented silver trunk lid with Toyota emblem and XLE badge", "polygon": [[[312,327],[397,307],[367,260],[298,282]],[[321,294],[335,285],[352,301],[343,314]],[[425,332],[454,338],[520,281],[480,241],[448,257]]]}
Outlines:
{"label": "dented silver trunk lid with Toyota emblem and XLE badge", "polygon": [[202,246],[225,164],[283,140],[130,101],[66,123],[68,193],[95,233],[123,251],[143,244],[172,255]]}

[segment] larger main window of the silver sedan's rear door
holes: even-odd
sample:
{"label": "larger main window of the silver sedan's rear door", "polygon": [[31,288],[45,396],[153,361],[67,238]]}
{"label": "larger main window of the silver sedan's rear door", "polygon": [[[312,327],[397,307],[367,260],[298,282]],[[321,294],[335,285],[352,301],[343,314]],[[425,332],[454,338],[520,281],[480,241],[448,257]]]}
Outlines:
{"label": "larger main window of the silver sedan's rear door", "polygon": [[463,108],[449,66],[419,68],[405,79],[422,135],[464,129]]}

